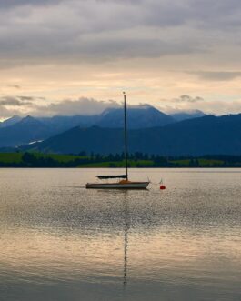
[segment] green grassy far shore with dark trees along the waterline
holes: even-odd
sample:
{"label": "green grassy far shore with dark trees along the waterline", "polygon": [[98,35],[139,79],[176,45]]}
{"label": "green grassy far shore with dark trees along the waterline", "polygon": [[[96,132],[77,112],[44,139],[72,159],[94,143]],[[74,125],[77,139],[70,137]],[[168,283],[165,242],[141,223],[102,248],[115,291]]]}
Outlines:
{"label": "green grassy far shore with dark trees along the waterline", "polygon": [[[0,153],[0,167],[124,167],[123,155]],[[241,167],[241,156],[164,157],[137,153],[130,167]]]}

